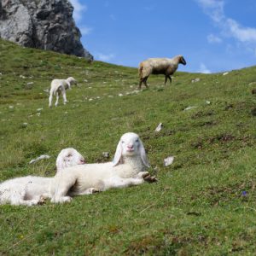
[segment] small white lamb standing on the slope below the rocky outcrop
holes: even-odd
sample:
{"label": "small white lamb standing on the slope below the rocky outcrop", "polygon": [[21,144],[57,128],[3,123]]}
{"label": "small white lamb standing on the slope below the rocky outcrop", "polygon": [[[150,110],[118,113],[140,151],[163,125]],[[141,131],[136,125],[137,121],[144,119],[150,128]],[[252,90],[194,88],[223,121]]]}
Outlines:
{"label": "small white lamb standing on the slope below the rocky outcrop", "polygon": [[59,95],[60,93],[63,96],[63,102],[64,104],[67,103],[67,96],[66,96],[66,90],[67,88],[71,90],[71,85],[77,84],[77,81],[70,77],[68,79],[53,79],[50,84],[50,90],[49,90],[49,108],[52,106],[52,99],[53,96],[56,96],[56,102],[55,107],[57,107],[59,102]]}

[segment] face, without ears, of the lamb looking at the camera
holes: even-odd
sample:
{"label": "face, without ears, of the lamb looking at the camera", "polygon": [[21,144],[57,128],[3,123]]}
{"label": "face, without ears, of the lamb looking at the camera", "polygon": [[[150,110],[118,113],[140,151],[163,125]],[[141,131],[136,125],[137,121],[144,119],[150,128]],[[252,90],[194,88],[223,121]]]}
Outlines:
{"label": "face, without ears, of the lamb looking at the camera", "polygon": [[122,155],[139,154],[141,140],[136,133],[127,132],[120,138]]}

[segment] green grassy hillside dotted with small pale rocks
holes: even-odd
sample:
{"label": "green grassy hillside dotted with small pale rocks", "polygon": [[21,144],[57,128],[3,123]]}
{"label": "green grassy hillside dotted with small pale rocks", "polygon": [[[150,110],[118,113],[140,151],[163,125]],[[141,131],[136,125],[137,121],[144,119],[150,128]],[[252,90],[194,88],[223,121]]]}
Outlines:
{"label": "green grassy hillside dotted with small pale rocks", "polygon": [[[67,147],[87,162],[108,161],[102,152],[112,159],[127,131],[140,135],[159,178],[69,204],[1,206],[1,255],[256,253],[256,67],[225,76],[177,72],[166,87],[163,76],[151,76],[149,90],[137,92],[135,68],[5,41],[0,61],[1,181],[53,176]],[[69,76],[79,87],[67,91],[66,106],[60,98],[49,109],[44,90]],[[28,164],[40,154],[51,158]],[[170,155],[173,164],[164,166]]]}

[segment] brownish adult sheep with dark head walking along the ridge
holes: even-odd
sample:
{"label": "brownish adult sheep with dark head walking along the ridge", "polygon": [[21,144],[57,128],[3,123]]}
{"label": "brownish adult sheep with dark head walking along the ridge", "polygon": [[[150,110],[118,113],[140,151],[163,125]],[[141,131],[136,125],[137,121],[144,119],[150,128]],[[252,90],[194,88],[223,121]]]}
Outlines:
{"label": "brownish adult sheep with dark head walking along the ridge", "polygon": [[171,75],[175,73],[177,70],[178,64],[186,65],[186,61],[183,58],[183,55],[177,55],[172,59],[169,58],[150,58],[146,61],[142,61],[139,65],[139,89],[142,88],[142,84],[148,88],[147,79],[150,74],[164,74],[165,77],[165,85],[167,79],[170,79],[170,83],[172,83]]}

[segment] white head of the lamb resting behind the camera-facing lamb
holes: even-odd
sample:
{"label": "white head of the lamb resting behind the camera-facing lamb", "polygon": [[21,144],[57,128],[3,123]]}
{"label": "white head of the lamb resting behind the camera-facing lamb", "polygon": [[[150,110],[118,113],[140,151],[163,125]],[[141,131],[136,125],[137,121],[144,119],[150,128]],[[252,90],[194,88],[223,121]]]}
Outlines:
{"label": "white head of the lamb resting behind the camera-facing lamb", "polygon": [[56,160],[57,172],[70,166],[84,164],[84,157],[74,148],[62,149]]}

